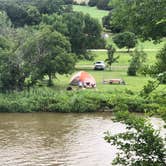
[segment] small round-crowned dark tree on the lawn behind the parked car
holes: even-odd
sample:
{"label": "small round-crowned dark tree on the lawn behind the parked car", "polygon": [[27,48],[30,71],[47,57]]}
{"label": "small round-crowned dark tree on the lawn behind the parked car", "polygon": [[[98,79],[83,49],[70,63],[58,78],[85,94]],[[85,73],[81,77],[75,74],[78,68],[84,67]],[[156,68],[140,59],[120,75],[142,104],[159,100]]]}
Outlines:
{"label": "small round-crowned dark tree on the lawn behind the parked car", "polygon": [[127,47],[128,52],[130,48],[134,48],[137,43],[137,38],[132,32],[123,32],[113,37],[114,43],[119,47]]}

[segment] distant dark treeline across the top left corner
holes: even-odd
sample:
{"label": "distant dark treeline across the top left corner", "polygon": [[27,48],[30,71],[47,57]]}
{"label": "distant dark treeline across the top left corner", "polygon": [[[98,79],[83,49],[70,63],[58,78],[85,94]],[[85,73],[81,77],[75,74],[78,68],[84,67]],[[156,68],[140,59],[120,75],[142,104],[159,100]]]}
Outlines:
{"label": "distant dark treeline across the top left corner", "polygon": [[36,25],[42,14],[72,11],[65,0],[0,0],[0,10],[4,10],[15,27]]}

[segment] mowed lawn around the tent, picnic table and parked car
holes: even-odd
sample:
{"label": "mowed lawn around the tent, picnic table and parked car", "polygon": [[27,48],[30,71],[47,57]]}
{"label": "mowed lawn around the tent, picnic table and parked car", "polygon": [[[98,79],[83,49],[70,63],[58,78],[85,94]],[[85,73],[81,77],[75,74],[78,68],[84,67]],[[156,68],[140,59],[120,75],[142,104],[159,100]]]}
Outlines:
{"label": "mowed lawn around the tent, picnic table and parked car", "polygon": [[[154,64],[156,59],[157,51],[147,52],[147,64]],[[149,76],[145,77],[143,75],[138,74],[138,76],[128,76],[127,75],[127,68],[129,65],[129,61],[131,56],[127,52],[117,52],[117,55],[120,55],[119,61],[113,64],[112,70],[107,68],[104,71],[96,71],[93,70],[93,63],[102,60],[104,61],[107,57],[107,53],[103,51],[93,52],[95,59],[93,61],[86,61],[82,60],[79,61],[76,65],[76,72],[84,70],[89,72],[97,82],[97,90],[98,91],[124,91],[126,89],[132,91],[140,91],[145,84],[147,84],[148,80],[152,80]],[[73,73],[73,74],[74,74]],[[58,79],[54,80],[55,88],[59,90],[66,89],[69,86],[70,79],[72,75],[58,75]],[[121,78],[124,79],[126,85],[110,85],[110,84],[103,84],[104,79],[111,79],[111,78]],[[164,90],[165,86],[161,85],[158,89]]]}

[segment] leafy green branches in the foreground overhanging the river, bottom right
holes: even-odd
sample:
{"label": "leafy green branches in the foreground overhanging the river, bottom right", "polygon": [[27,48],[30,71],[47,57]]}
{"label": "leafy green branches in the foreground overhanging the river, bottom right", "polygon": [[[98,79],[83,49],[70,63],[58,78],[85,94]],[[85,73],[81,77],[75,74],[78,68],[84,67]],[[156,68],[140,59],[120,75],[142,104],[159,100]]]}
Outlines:
{"label": "leafy green branches in the foreground overhanging the river, bottom right", "polygon": [[115,114],[116,121],[126,125],[126,132],[111,135],[106,132],[105,140],[120,151],[113,165],[159,165],[166,164],[165,142],[152,125],[141,116],[131,115],[125,111]]}

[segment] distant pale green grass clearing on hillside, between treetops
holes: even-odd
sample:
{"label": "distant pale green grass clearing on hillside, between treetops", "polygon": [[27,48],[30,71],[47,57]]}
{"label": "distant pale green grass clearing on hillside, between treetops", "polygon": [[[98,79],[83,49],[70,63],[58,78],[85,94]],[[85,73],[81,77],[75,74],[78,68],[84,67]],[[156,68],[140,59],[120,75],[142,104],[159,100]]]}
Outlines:
{"label": "distant pale green grass clearing on hillside, between treetops", "polygon": [[89,7],[89,6],[80,6],[80,5],[73,5],[73,10],[77,12],[83,12],[84,14],[90,14],[91,17],[96,18],[99,22],[102,22],[102,17],[108,15],[108,11],[99,10],[96,7]]}

